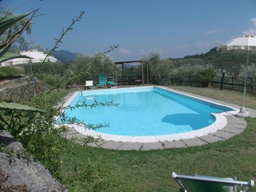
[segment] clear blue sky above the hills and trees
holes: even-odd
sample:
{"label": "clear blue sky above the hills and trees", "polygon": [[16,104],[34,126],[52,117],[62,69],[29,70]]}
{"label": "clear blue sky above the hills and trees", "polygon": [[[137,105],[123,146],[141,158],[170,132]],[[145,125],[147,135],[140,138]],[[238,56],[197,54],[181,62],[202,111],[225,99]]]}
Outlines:
{"label": "clear blue sky above the hills and trees", "polygon": [[2,0],[0,5],[17,14],[40,8],[37,15],[44,15],[33,18],[27,39],[45,49],[84,10],[58,49],[93,55],[118,44],[111,52],[115,61],[150,52],[162,58],[201,54],[242,34],[256,35],[255,0]]}

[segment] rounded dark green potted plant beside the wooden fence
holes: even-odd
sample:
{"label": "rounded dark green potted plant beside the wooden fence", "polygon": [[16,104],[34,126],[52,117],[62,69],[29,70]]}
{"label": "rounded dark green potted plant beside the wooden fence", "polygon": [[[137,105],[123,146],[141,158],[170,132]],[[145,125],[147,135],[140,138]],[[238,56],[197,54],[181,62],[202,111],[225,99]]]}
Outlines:
{"label": "rounded dark green potted plant beside the wooden fence", "polygon": [[204,88],[210,88],[211,82],[216,76],[216,72],[213,68],[206,68],[203,70],[200,70],[197,73],[197,79],[202,82],[202,87]]}

